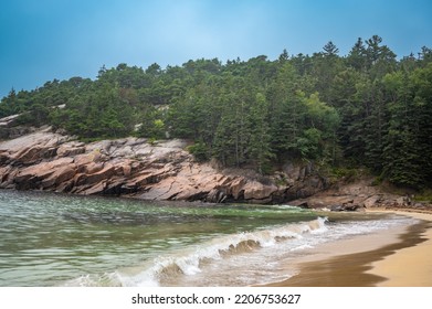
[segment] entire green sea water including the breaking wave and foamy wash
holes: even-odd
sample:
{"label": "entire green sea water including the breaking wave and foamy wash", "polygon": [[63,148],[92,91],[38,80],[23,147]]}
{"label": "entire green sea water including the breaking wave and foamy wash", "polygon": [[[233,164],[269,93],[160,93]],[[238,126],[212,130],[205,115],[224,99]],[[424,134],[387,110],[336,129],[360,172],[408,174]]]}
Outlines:
{"label": "entire green sea water including the breaking wave and foamy wash", "polygon": [[286,263],[307,248],[414,223],[289,205],[0,190],[0,286],[265,284],[295,275]]}

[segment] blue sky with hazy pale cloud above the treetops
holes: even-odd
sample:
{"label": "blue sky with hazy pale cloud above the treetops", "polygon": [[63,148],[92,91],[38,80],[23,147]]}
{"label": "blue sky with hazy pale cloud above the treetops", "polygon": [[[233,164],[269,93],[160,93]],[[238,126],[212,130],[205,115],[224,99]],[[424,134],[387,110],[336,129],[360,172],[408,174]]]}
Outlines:
{"label": "blue sky with hazy pale cloud above the treetops", "polygon": [[0,0],[0,97],[119,63],[346,55],[378,34],[399,57],[432,47],[430,0]]}

